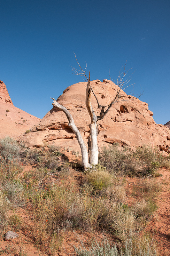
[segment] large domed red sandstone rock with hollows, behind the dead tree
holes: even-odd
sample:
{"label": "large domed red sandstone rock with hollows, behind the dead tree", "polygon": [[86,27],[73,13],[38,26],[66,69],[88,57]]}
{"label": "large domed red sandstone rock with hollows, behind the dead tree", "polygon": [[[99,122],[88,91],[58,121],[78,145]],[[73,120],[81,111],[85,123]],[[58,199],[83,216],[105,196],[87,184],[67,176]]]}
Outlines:
{"label": "large domed red sandstone rock with hollows, behind the dead tree", "polygon": [[[117,86],[112,81],[94,80],[90,83],[98,97],[99,104],[108,105],[115,97]],[[86,86],[87,82],[69,86],[58,98],[58,102],[70,111],[87,144],[90,117],[85,105]],[[121,99],[126,97],[127,101],[113,104],[104,119],[98,121],[99,148],[114,142],[130,147],[150,143],[152,146],[159,146],[160,150],[169,152],[170,131],[162,124],[155,124],[148,104],[123,91],[121,91],[121,95]],[[96,115],[99,115],[100,110],[97,108],[94,96],[92,96],[92,106]],[[43,142],[54,142],[63,148],[71,147],[80,152],[76,136],[68,126],[65,114],[54,108],[43,117],[38,125],[32,128],[32,132],[22,134],[18,140],[30,148],[43,146]]]}

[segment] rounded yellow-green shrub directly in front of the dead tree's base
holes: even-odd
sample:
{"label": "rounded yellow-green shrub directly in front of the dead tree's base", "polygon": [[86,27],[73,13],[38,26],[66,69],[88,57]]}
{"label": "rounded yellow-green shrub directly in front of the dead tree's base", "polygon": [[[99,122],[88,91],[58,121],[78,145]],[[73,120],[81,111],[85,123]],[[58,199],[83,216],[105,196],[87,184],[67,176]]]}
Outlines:
{"label": "rounded yellow-green shrub directly in front of the dead tree's base", "polygon": [[109,188],[113,184],[112,175],[109,172],[100,170],[87,172],[86,180],[96,192],[101,192],[104,188]]}

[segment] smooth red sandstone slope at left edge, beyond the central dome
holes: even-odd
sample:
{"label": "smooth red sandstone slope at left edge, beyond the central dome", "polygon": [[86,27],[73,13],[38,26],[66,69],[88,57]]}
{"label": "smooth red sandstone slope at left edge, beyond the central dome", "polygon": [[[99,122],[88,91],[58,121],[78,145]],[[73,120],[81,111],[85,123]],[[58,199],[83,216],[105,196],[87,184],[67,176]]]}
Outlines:
{"label": "smooth red sandstone slope at left edge, beyond the central dome", "polygon": [[6,85],[0,81],[0,138],[5,136],[16,138],[40,120],[40,118],[14,107]]}

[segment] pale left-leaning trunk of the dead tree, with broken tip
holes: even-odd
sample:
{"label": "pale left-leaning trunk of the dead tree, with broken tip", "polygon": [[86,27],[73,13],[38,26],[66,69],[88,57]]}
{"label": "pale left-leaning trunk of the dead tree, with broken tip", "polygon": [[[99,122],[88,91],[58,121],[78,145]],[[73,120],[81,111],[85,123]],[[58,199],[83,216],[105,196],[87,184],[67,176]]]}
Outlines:
{"label": "pale left-leaning trunk of the dead tree, with broken tip", "polygon": [[70,126],[70,128],[72,129],[72,131],[75,133],[76,137],[77,137],[77,140],[78,140],[78,143],[80,145],[80,148],[81,148],[81,155],[82,155],[82,164],[83,164],[83,167],[86,169],[87,167],[90,167],[90,164],[89,164],[89,161],[88,161],[88,151],[87,151],[87,148],[86,148],[86,145],[84,143],[84,140],[78,130],[78,128],[76,127],[76,125],[74,124],[74,120],[73,120],[73,117],[72,115],[70,114],[70,112],[62,105],[60,105],[56,100],[54,100],[53,98],[51,98],[53,100],[53,107],[54,108],[58,108],[60,110],[62,110],[65,114],[66,114],[66,117],[69,121],[68,125]]}

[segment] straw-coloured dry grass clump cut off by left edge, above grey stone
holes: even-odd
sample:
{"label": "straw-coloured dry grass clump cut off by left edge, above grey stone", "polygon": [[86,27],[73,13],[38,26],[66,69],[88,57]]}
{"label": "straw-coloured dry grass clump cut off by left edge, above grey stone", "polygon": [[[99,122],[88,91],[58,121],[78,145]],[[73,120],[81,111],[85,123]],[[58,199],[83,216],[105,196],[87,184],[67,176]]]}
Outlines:
{"label": "straw-coloured dry grass clump cut off by left edge, above grey stone", "polygon": [[11,209],[11,203],[4,195],[2,191],[0,191],[0,231],[4,231],[6,226],[8,225],[8,212]]}

